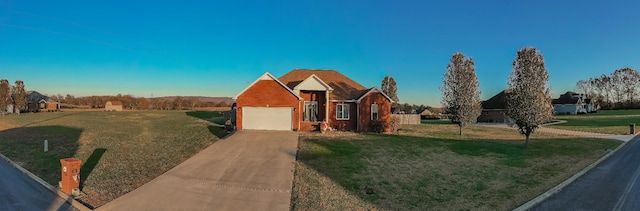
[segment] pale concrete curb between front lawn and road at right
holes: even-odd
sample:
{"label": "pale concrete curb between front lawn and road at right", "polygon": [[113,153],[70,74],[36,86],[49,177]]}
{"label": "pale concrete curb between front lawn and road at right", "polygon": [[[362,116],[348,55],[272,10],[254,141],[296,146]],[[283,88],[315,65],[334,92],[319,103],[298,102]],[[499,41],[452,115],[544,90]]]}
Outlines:
{"label": "pale concrete curb between front lawn and road at right", "polygon": [[[636,133],[637,134],[637,133]],[[540,202],[548,199],[549,197],[555,195],[556,193],[560,192],[564,187],[566,187],[567,185],[571,184],[573,181],[577,180],[578,178],[580,178],[582,175],[586,174],[589,170],[593,169],[594,167],[596,167],[598,164],[600,164],[602,161],[606,160],[607,158],[609,158],[611,155],[615,154],[616,152],[618,152],[619,149],[621,149],[622,147],[624,147],[625,145],[627,145],[627,143],[629,143],[631,140],[633,140],[634,138],[636,138],[636,136],[634,136],[633,138],[631,138],[628,141],[622,141],[622,144],[620,144],[620,146],[618,146],[616,149],[614,149],[613,151],[605,154],[604,156],[602,156],[600,159],[596,160],[595,162],[593,162],[592,164],[590,164],[589,166],[585,167],[584,169],[580,170],[578,173],[574,174],[573,176],[569,177],[567,180],[565,180],[564,182],[561,182],[560,184],[556,185],[555,187],[549,189],[548,191],[540,194],[538,197],[533,198],[532,200],[528,201],[527,203],[524,203],[522,205],[520,205],[519,207],[513,209],[514,211],[525,211],[525,210],[529,210],[531,208],[533,208],[534,206],[536,206],[537,204],[539,204]]]}

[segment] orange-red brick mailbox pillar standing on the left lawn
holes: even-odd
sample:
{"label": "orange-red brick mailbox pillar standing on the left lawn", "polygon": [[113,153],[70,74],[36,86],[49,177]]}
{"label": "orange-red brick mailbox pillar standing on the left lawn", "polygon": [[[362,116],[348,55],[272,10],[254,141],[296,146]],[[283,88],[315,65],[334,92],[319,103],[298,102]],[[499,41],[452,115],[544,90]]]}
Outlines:
{"label": "orange-red brick mailbox pillar standing on the left lawn", "polygon": [[60,159],[60,164],[62,165],[60,189],[66,194],[78,195],[80,193],[80,164],[82,164],[82,160],[64,158]]}

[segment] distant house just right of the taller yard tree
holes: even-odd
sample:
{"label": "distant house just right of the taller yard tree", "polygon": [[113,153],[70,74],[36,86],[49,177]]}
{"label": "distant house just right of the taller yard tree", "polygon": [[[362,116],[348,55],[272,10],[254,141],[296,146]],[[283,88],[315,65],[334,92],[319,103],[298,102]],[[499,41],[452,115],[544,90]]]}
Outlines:
{"label": "distant house just right of the taller yard tree", "polygon": [[575,115],[597,111],[597,107],[591,99],[586,98],[584,94],[575,92],[566,92],[560,95],[559,98],[553,99],[551,103],[556,115]]}

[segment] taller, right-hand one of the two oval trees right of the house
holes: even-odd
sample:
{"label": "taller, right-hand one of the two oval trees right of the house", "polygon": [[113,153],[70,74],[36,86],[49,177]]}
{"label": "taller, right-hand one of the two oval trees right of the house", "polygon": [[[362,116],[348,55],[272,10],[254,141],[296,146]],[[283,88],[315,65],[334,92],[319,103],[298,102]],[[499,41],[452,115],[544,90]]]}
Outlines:
{"label": "taller, right-hand one of the two oval trees right of the house", "polygon": [[525,147],[531,133],[552,118],[548,81],[542,54],[536,48],[520,49],[508,80],[511,92],[507,95],[507,115],[515,121],[520,134],[525,135]]}

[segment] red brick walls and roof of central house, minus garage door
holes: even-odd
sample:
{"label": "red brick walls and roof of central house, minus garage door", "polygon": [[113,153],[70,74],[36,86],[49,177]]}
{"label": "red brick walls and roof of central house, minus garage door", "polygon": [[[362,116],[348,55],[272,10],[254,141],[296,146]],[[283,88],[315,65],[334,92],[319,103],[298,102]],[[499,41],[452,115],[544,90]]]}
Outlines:
{"label": "red brick walls and roof of central house, minus garage door", "polygon": [[[321,80],[325,87],[330,88],[326,91],[322,87],[306,87],[315,91],[300,90],[304,86],[297,85],[308,78]],[[304,121],[305,101],[318,102],[317,121]],[[341,131],[370,131],[371,104],[374,103],[378,105],[378,119],[388,124],[391,120],[390,99],[379,89],[365,89],[337,71],[294,70],[280,79],[265,73],[261,79],[236,96],[236,128],[243,128],[243,107],[287,107],[294,108],[293,130],[316,131],[320,123],[326,121],[329,127]],[[337,119],[338,104],[349,105],[348,119]],[[385,131],[388,130],[387,127]]]}

